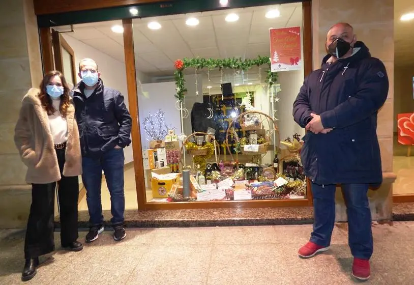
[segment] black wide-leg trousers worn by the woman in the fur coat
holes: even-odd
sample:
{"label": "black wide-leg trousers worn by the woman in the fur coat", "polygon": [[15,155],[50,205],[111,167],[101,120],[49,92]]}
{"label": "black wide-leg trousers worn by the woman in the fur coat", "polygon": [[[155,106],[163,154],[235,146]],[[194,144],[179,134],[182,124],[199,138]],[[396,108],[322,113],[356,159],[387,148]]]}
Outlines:
{"label": "black wide-leg trousers worn by the woman in the fur coat", "polygon": [[[66,148],[56,150],[62,179],[57,181],[63,247],[78,239],[78,177],[63,176]],[[54,195],[56,182],[32,184],[32,206],[27,221],[24,258],[33,259],[54,250]]]}

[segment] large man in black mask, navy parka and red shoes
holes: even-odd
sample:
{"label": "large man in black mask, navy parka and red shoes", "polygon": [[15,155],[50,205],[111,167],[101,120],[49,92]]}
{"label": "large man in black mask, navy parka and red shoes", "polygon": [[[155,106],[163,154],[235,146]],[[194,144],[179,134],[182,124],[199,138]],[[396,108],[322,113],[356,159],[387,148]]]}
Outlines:
{"label": "large man in black mask, navy parka and red shoes", "polygon": [[347,206],[352,275],[370,276],[373,251],[369,185],[382,182],[376,135],[377,114],[387,99],[385,66],[357,41],[352,26],[338,23],[327,36],[328,55],[313,71],[293,103],[293,117],[307,133],[301,151],[312,181],[314,224],[302,258],[326,251],[335,222],[335,188],[341,184]]}

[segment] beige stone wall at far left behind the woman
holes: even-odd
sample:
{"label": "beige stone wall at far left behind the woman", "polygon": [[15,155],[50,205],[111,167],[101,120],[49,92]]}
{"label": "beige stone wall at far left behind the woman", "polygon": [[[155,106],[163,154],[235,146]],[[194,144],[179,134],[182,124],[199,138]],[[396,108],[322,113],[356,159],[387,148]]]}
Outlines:
{"label": "beige stone wall at far left behind the woman", "polygon": [[0,9],[0,229],[27,221],[31,187],[14,146],[21,99],[38,86],[42,65],[32,0],[2,0]]}

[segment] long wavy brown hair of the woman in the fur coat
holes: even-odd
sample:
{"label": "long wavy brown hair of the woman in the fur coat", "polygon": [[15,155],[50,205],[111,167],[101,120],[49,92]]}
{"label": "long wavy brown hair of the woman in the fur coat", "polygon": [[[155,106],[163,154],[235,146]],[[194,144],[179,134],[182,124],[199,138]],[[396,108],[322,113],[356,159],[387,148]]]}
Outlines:
{"label": "long wavy brown hair of the woman in the fur coat", "polygon": [[69,90],[68,83],[66,82],[66,79],[63,76],[62,72],[53,70],[45,74],[39,87],[40,88],[39,99],[40,99],[40,102],[42,103],[43,108],[47,111],[47,115],[52,115],[56,111],[55,108],[53,107],[52,99],[46,92],[46,86],[48,86],[50,79],[56,75],[61,78],[62,86],[63,86],[63,94],[61,95],[61,105],[59,106],[59,111],[61,112],[62,117],[66,117],[66,113],[70,105],[69,103],[70,90]]}

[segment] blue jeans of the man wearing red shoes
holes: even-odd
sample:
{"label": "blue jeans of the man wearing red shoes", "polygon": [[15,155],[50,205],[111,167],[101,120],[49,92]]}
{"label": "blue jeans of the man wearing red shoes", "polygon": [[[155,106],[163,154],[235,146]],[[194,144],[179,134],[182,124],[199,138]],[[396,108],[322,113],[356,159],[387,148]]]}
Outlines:
{"label": "blue jeans of the man wearing red shoes", "polygon": [[[331,244],[335,223],[335,185],[312,183],[314,223],[310,241]],[[344,184],[342,191],[348,216],[348,244],[354,258],[369,260],[373,251],[368,184]]]}

